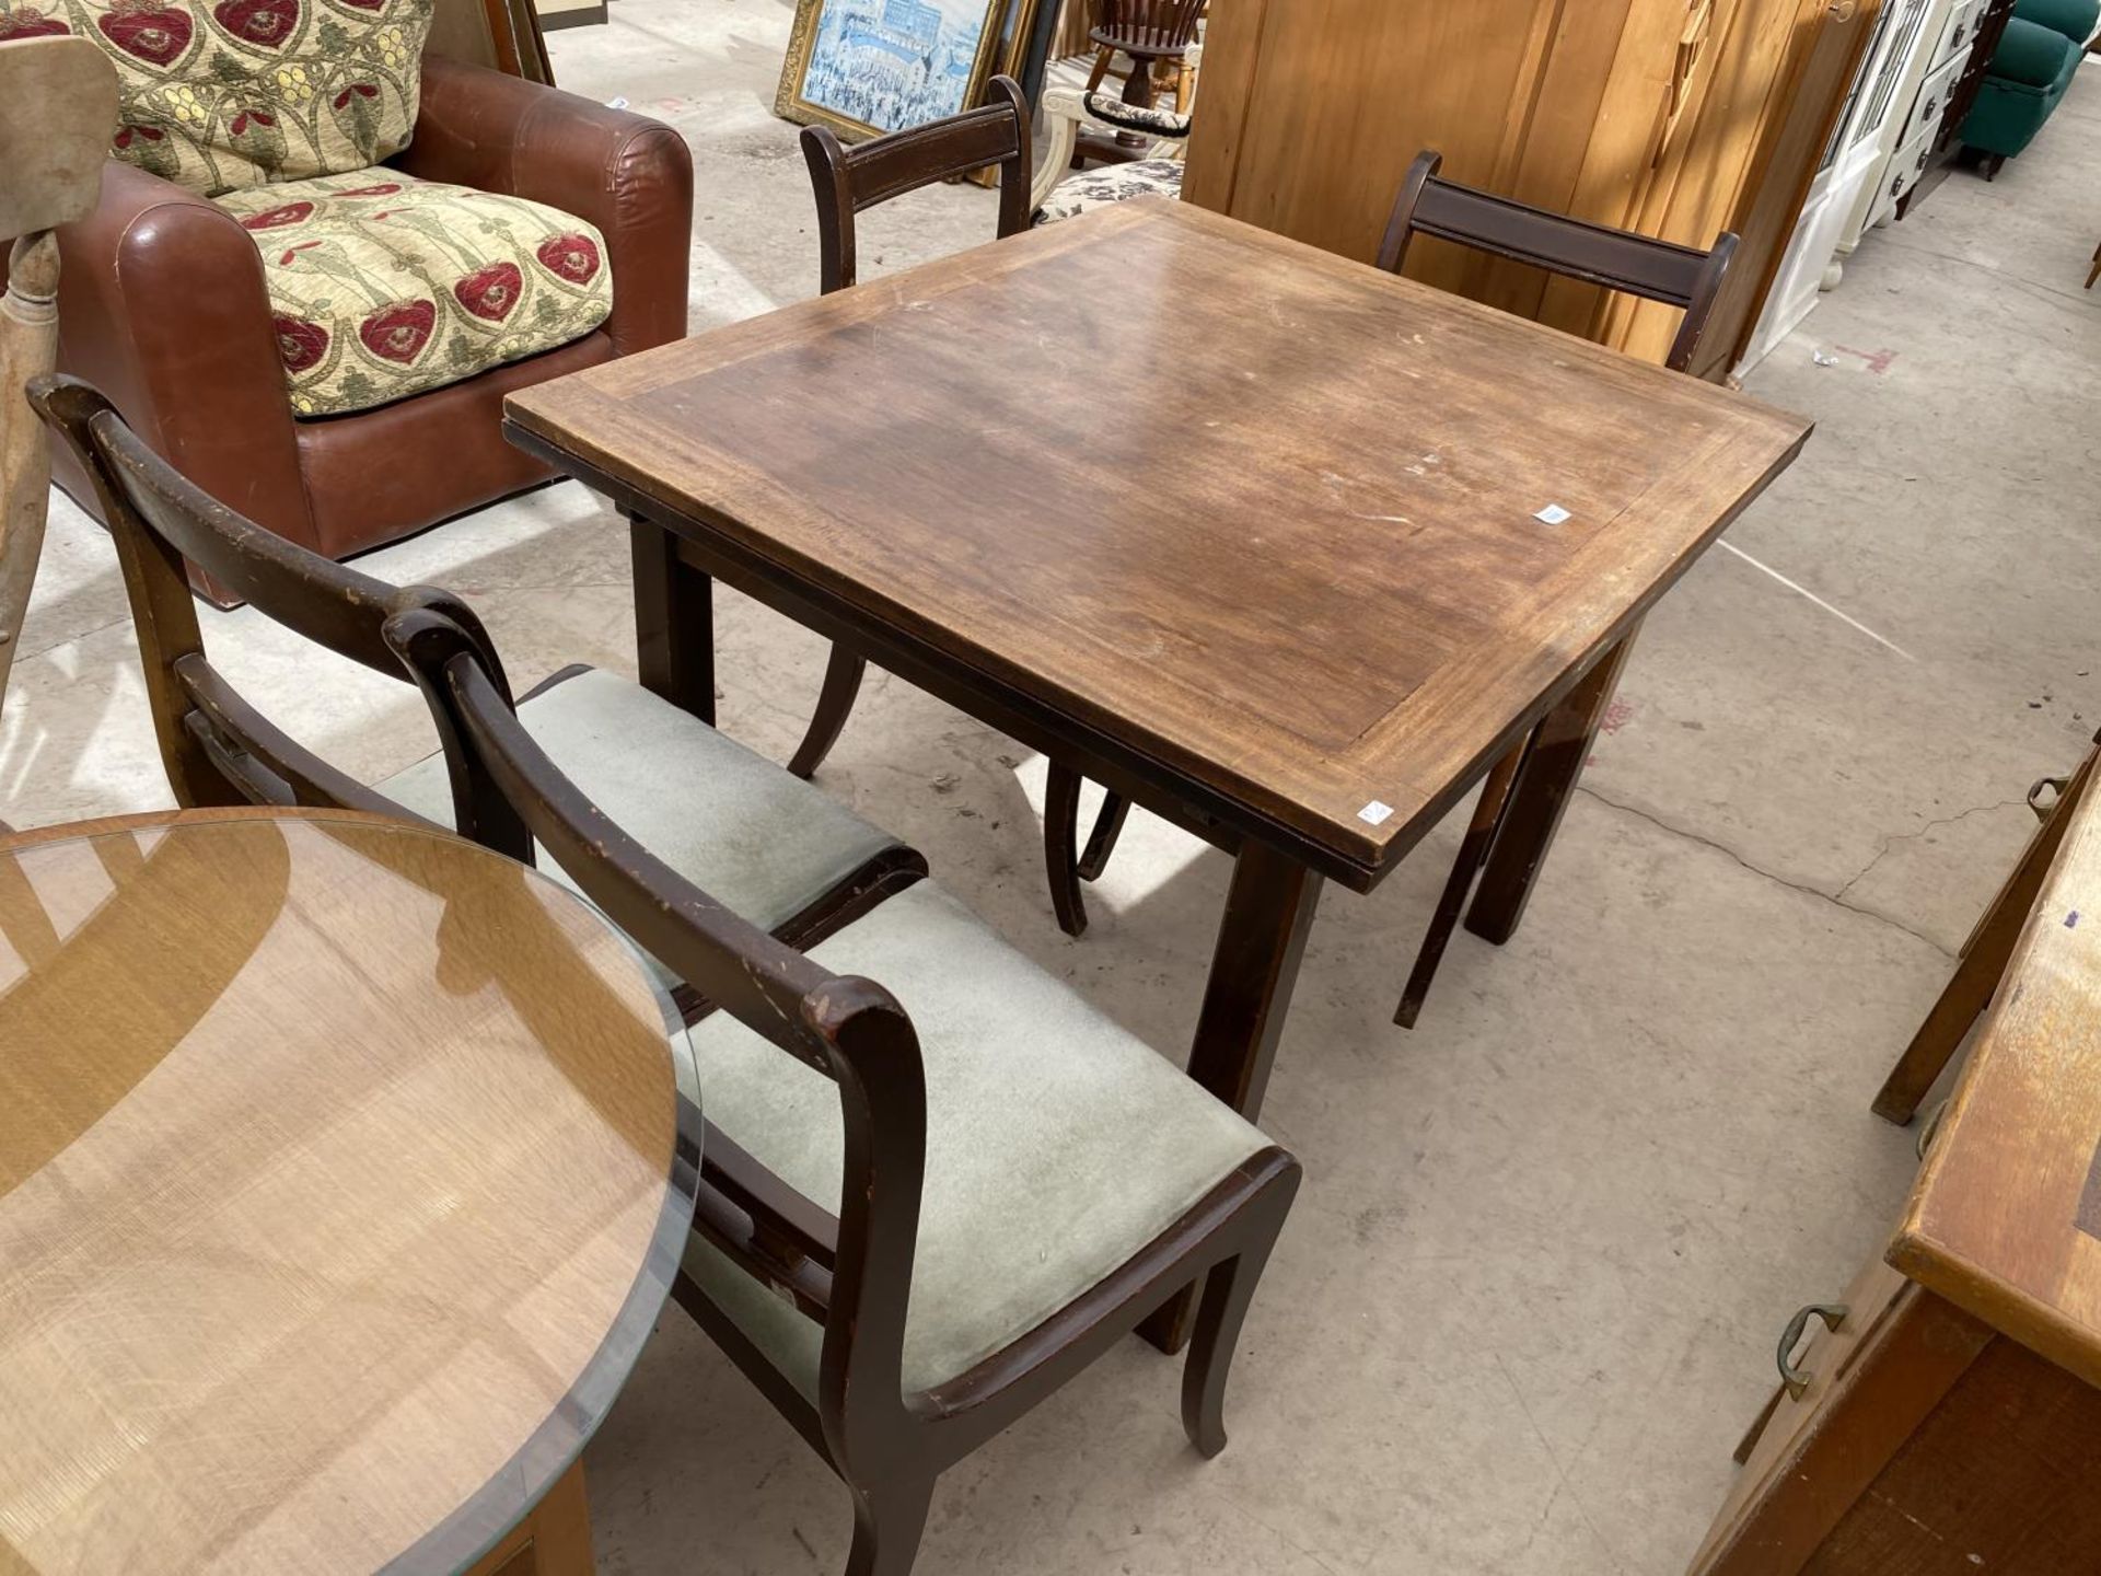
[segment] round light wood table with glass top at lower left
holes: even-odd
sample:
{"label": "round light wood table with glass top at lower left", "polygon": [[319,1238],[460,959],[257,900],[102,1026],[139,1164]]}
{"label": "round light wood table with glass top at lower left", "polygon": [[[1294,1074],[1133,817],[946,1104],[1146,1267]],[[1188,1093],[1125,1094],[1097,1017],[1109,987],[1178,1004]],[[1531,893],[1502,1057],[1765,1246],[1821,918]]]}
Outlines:
{"label": "round light wood table with glass top at lower left", "polygon": [[462,1570],[571,1486],[582,1528],[693,1212],[679,1021],[439,832],[0,838],[0,1574]]}

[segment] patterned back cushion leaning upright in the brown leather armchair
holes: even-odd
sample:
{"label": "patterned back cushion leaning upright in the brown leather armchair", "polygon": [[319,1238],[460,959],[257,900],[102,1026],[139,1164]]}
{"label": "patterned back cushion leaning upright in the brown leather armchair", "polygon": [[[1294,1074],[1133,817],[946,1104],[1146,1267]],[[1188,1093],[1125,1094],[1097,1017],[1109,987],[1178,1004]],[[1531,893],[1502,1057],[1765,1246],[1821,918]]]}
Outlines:
{"label": "patterned back cushion leaning upright in the brown leather armchair", "polygon": [[433,0],[0,0],[0,42],[80,34],[118,67],[111,153],[200,195],[408,147]]}

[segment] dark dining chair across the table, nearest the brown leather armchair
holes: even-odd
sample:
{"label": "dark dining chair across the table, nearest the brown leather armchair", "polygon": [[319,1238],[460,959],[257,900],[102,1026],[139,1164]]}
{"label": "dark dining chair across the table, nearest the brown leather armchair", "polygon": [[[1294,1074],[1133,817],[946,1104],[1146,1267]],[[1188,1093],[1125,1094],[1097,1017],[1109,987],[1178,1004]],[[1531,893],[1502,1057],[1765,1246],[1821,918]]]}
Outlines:
{"label": "dark dining chair across the table, nearest the brown leather armchair", "polygon": [[[1029,109],[1021,84],[996,76],[977,109],[878,137],[859,147],[845,147],[828,126],[803,128],[803,158],[817,195],[817,263],[824,294],[847,290],[859,277],[855,248],[855,216],[866,208],[918,191],[937,181],[952,181],[987,166],[1000,168],[998,237],[1019,235],[1029,227],[1034,195],[1034,164],[1029,153]],[[811,717],[803,744],[788,769],[798,777],[817,771],[838,744],[847,714],[861,693],[868,658],[845,645],[834,645],[817,691],[817,714]],[[1080,883],[1095,880],[1116,849],[1128,805],[1109,794],[1095,830],[1080,849],[1080,773],[1050,763],[1050,786],[1044,803],[1044,864],[1050,874],[1050,908],[1065,935],[1086,931],[1086,901]]]}

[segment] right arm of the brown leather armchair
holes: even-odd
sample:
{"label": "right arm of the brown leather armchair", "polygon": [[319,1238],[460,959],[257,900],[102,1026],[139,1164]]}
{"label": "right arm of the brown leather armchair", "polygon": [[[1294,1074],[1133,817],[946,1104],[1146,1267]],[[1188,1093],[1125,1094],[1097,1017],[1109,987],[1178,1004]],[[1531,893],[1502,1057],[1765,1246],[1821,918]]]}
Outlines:
{"label": "right arm of the brown leather armchair", "polygon": [[613,349],[628,355],[685,338],[693,155],[670,126],[424,55],[416,137],[393,164],[597,225],[613,271],[605,322]]}

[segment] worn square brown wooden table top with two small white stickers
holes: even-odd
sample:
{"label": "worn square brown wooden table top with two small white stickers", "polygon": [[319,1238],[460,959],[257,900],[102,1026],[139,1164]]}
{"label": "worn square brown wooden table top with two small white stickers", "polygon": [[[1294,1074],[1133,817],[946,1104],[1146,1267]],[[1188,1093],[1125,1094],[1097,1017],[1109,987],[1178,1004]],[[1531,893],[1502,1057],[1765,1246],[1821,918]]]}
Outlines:
{"label": "worn square brown wooden table top with two small white stickers", "polygon": [[506,410],[527,445],[1290,828],[1355,885],[1809,435],[1153,200]]}

